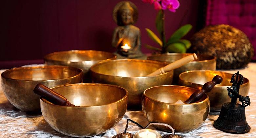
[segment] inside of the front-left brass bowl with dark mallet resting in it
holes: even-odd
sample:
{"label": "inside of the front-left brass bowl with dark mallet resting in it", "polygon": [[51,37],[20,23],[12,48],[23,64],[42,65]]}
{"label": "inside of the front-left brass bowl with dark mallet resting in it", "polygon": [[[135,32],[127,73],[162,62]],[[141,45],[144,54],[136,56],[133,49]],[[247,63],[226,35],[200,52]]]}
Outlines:
{"label": "inside of the front-left brass bowl with dark mallet resting in it", "polygon": [[108,85],[66,85],[53,90],[76,106],[99,106],[117,102],[127,96],[121,87]]}

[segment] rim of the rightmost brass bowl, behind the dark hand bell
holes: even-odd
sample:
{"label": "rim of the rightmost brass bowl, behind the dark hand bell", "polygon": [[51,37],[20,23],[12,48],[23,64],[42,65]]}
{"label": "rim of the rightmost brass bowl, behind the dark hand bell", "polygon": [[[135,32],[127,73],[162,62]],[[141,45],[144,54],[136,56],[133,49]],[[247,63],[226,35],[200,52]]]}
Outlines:
{"label": "rim of the rightmost brass bowl, behind the dark hand bell", "polygon": [[[186,82],[186,83],[193,83],[193,82],[190,82],[190,81],[187,81],[187,80],[184,80],[181,78],[181,75],[183,74],[186,74],[186,73],[190,73],[190,72],[219,72],[219,73],[224,73],[224,74],[230,74],[231,76],[233,75],[232,73],[227,73],[227,72],[224,72],[224,71],[217,71],[217,70],[190,70],[190,71],[185,71],[185,72],[182,72],[181,74],[179,74],[179,80],[183,81],[183,82]],[[242,85],[240,86],[244,86],[244,85],[247,85],[250,83],[249,79],[248,78],[245,78],[244,79],[248,80],[246,83],[243,83]],[[193,83],[193,84],[196,84],[196,85],[202,85],[203,84],[198,84],[198,83]],[[231,85],[227,85],[227,86],[214,86],[214,87],[229,87],[229,86],[232,86]]]}

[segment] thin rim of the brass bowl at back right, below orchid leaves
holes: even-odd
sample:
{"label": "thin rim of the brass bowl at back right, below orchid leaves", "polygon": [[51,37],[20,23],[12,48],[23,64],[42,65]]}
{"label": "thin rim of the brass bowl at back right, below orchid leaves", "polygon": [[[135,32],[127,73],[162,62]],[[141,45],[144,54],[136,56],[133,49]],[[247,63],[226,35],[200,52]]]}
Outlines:
{"label": "thin rim of the brass bowl at back right, below orchid leaves", "polygon": [[[159,53],[159,54],[154,54],[154,55],[150,55],[147,57],[147,60],[152,60],[152,59],[149,59],[149,57],[157,57],[157,56],[160,56],[160,55],[191,55],[193,53]],[[202,63],[202,62],[209,62],[209,61],[216,61],[216,56],[210,56],[210,55],[206,55],[206,54],[196,54],[197,56],[205,56],[205,57],[210,57],[211,59],[209,60],[200,60],[200,61],[190,61],[189,63]],[[154,61],[159,61],[159,60],[154,60]],[[168,61],[166,61],[168,62]]]}

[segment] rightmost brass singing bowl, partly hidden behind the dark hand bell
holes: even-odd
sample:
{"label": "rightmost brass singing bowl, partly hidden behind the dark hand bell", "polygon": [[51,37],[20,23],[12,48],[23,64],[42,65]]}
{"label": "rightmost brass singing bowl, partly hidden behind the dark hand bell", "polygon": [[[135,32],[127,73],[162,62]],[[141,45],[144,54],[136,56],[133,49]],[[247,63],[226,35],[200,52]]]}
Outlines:
{"label": "rightmost brass singing bowl, partly hidden behind the dark hand bell", "polygon": [[[179,76],[179,85],[201,89],[203,84],[211,81],[215,75],[220,75],[223,78],[221,84],[215,85],[215,87],[207,93],[211,102],[211,111],[220,111],[222,104],[230,102],[231,98],[228,96],[227,87],[231,87],[231,77],[233,74],[211,71],[211,70],[194,70],[183,72]],[[249,80],[244,78],[244,83],[240,85],[239,94],[247,96],[249,93]]]}

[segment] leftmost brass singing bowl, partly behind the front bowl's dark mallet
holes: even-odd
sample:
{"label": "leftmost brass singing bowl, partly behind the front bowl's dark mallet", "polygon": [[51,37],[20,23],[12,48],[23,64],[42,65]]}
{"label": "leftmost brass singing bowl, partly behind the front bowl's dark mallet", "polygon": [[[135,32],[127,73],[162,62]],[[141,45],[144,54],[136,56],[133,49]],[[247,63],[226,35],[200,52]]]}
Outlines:
{"label": "leftmost brass singing bowl, partly behind the front bowl's dark mallet", "polygon": [[2,89],[8,101],[23,111],[39,111],[39,96],[33,93],[38,83],[47,87],[81,83],[81,69],[66,66],[20,67],[1,74]]}

